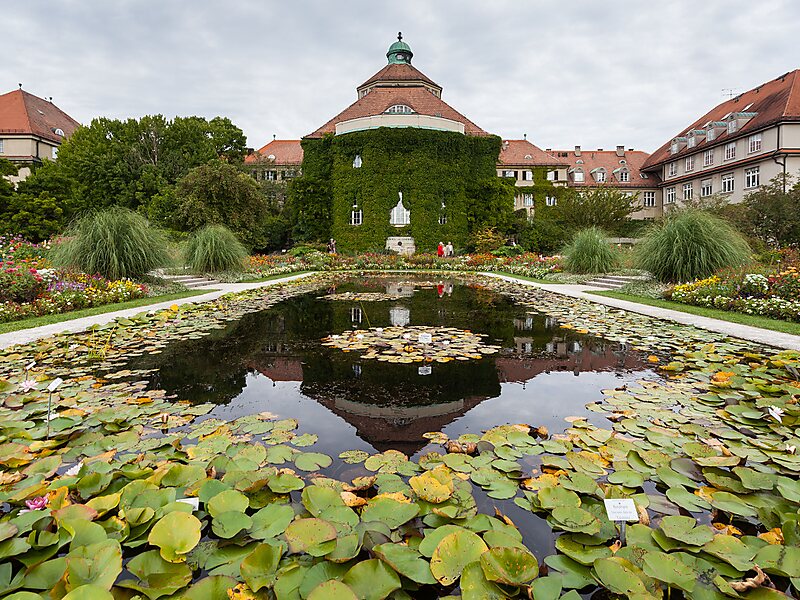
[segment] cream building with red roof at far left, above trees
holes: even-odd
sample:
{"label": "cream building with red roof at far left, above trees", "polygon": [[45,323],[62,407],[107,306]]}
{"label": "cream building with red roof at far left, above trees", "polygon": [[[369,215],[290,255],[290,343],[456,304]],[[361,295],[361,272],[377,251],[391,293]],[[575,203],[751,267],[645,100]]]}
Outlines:
{"label": "cream building with red roof at far left, above trees", "polygon": [[80,126],[49,100],[23,89],[0,95],[0,158],[20,167],[12,182],[30,175],[31,167],[55,160],[61,142]]}

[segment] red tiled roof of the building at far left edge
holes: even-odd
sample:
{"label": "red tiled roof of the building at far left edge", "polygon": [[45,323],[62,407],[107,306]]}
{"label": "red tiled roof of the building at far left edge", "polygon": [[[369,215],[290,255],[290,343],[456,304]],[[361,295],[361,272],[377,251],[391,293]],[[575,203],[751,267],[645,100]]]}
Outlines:
{"label": "red tiled roof of the building at far left edge", "polygon": [[79,126],[55,104],[25,90],[0,95],[0,134],[36,135],[60,143],[63,138],[56,129],[69,137]]}

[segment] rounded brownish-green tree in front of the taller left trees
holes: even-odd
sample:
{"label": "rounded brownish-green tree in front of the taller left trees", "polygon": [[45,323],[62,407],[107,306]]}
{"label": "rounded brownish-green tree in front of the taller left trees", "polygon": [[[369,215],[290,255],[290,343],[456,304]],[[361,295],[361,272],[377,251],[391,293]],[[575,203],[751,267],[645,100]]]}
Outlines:
{"label": "rounded brownish-green tree in front of the taller left trees", "polygon": [[235,166],[214,160],[195,167],[175,186],[173,223],[194,231],[220,223],[249,248],[262,248],[269,206],[258,184]]}

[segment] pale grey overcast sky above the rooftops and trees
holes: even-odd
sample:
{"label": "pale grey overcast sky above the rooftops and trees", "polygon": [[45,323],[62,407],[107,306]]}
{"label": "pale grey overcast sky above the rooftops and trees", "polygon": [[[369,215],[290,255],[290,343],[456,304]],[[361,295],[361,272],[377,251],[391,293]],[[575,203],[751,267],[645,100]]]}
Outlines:
{"label": "pale grey overcast sky above the rooftops and trees", "polygon": [[402,30],[485,130],[542,148],[653,151],[800,68],[799,0],[3,0],[1,91],[93,117],[230,117],[260,147],[356,99]]}

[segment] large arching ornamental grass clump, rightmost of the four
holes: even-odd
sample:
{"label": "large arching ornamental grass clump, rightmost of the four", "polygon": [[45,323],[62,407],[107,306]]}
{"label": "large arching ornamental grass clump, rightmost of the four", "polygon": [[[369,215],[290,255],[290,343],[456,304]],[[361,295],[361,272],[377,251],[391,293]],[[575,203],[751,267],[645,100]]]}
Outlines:
{"label": "large arching ornamental grass clump, rightmost of the four", "polygon": [[747,262],[750,247],[729,223],[701,210],[672,213],[650,227],[636,248],[637,266],[664,282],[708,277]]}

